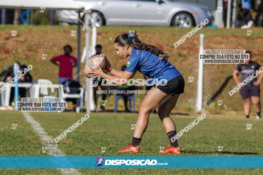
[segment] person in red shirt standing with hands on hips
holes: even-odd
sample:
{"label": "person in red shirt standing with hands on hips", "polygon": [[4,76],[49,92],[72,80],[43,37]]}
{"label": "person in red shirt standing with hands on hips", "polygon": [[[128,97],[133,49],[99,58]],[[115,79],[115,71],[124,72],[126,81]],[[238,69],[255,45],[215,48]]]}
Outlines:
{"label": "person in red shirt standing with hands on hips", "polygon": [[[72,47],[70,45],[64,46],[63,55],[58,55],[53,57],[50,61],[59,67],[59,84],[63,84],[63,82],[67,82],[72,78],[72,70],[73,67],[77,66],[77,59],[74,56],[71,56]],[[59,64],[56,62],[59,61]]]}

